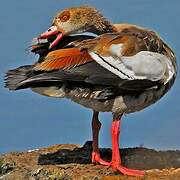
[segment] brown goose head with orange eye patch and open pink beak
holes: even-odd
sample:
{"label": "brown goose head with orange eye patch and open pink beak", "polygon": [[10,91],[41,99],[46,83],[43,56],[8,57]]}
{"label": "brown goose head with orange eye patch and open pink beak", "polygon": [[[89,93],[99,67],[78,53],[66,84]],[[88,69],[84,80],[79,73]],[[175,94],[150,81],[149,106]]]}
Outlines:
{"label": "brown goose head with orange eye patch and open pink beak", "polygon": [[67,8],[57,13],[52,26],[42,33],[38,39],[56,38],[49,48],[55,47],[64,36],[79,33],[100,35],[113,32],[113,25],[95,8],[89,6]]}

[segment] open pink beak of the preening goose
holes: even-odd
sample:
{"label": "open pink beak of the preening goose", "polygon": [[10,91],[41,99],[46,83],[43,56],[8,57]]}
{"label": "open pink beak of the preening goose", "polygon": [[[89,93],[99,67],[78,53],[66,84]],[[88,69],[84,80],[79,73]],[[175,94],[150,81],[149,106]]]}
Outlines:
{"label": "open pink beak of the preening goose", "polygon": [[46,32],[42,33],[38,39],[47,39],[57,35],[56,39],[50,44],[49,49],[55,47],[63,37],[63,33],[58,31],[56,26],[51,26]]}

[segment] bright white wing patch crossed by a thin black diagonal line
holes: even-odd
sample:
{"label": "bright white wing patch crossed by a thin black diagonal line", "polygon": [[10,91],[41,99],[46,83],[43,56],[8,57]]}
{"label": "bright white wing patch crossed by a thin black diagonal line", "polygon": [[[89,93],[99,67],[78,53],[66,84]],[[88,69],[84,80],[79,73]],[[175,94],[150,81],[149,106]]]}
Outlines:
{"label": "bright white wing patch crossed by a thin black diagonal line", "polygon": [[100,56],[95,52],[89,54],[98,64],[121,79],[158,81],[163,78],[167,68],[169,68],[169,79],[175,72],[172,63],[170,64],[171,61],[165,55],[141,51],[134,56],[121,56],[120,48],[122,48],[120,45],[119,48],[117,45],[111,46],[110,51],[112,55],[116,55],[115,57]]}

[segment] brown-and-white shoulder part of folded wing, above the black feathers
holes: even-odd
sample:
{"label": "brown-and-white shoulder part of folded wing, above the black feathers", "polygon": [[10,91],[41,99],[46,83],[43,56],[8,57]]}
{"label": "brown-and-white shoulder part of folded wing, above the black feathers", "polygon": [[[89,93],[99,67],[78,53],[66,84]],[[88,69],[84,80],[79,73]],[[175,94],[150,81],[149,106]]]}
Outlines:
{"label": "brown-and-white shoulder part of folded wing, above the black feathers", "polygon": [[138,81],[142,86],[147,81],[166,83],[176,73],[174,53],[152,31],[133,27],[75,46],[86,49],[98,64],[126,84],[127,81]]}

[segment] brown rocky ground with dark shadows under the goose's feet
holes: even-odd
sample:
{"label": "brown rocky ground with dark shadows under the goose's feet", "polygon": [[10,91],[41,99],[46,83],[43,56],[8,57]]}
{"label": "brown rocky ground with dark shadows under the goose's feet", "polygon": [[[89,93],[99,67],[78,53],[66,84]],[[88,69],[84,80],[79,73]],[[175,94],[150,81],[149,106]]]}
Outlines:
{"label": "brown rocky ground with dark shadows under the goose's feet", "polygon": [[[27,152],[0,156],[0,180],[129,180],[180,179],[180,151],[155,151],[146,148],[121,150],[123,164],[146,170],[143,178],[127,177],[111,168],[91,164],[92,143],[83,147],[61,144]],[[111,150],[101,149],[110,161]]]}

